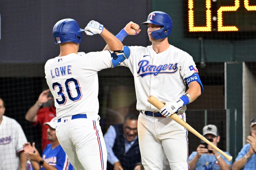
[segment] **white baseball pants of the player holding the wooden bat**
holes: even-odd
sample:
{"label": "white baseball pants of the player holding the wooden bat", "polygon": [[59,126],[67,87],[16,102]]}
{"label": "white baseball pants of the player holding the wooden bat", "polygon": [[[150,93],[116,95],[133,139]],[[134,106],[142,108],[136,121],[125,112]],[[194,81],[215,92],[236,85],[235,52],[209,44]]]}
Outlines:
{"label": "white baseball pants of the player holding the wooden bat", "polygon": [[[185,113],[179,116],[186,121]],[[154,118],[140,113],[138,137],[145,170],[162,170],[163,152],[171,169],[188,169],[188,130],[171,118]]]}

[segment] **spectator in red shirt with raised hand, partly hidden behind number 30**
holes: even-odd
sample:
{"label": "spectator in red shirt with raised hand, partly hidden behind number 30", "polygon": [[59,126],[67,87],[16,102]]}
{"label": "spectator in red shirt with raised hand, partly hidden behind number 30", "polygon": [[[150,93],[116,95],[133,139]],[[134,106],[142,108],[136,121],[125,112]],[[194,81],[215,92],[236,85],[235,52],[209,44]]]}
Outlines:
{"label": "spectator in red shirt with raised hand, partly hidden behind number 30", "polygon": [[[51,142],[47,140],[47,129],[48,127],[44,125],[45,122],[50,122],[53,117],[56,116],[56,108],[54,104],[50,107],[43,107],[43,104],[48,100],[53,99],[53,97],[48,97],[52,95],[50,89],[44,90],[38,97],[36,103],[29,108],[25,118],[27,121],[32,122],[33,125],[40,124],[42,128],[42,151],[47,144]],[[53,102],[54,103],[54,102]]]}

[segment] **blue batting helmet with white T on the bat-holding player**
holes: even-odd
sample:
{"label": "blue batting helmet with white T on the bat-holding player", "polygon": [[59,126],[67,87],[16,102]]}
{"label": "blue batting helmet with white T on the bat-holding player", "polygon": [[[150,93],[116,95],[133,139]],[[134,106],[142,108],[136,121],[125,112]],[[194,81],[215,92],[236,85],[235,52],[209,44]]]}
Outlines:
{"label": "blue batting helmet with white T on the bat-holding player", "polygon": [[143,22],[142,24],[147,25],[148,23],[162,26],[159,30],[151,32],[151,36],[154,39],[164,39],[172,32],[172,18],[165,12],[151,12],[148,15],[147,21]]}

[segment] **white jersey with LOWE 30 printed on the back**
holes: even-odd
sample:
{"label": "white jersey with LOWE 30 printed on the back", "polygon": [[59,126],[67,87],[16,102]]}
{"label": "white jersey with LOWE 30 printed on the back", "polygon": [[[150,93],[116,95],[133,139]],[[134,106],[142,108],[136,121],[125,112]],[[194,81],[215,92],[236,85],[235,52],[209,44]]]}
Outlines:
{"label": "white jersey with LOWE 30 printed on the back", "polygon": [[110,68],[109,51],[79,52],[45,63],[45,78],[55,99],[56,116],[98,114],[98,71]]}

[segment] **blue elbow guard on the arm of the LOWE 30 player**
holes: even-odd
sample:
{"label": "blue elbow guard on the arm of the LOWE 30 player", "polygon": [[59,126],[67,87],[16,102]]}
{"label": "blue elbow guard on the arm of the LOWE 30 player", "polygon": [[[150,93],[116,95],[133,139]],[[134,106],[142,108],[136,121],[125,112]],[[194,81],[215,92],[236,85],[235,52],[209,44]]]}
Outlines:
{"label": "blue elbow guard on the arm of the LOWE 30 player", "polygon": [[[115,52],[119,53],[116,54]],[[124,46],[122,50],[117,50],[117,51],[113,51],[113,53],[111,53],[111,57],[112,57],[112,67],[116,67],[119,66],[125,59],[128,59],[130,57],[131,54],[131,50],[129,47]]]}

